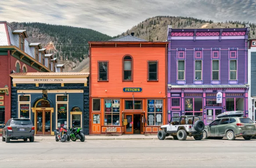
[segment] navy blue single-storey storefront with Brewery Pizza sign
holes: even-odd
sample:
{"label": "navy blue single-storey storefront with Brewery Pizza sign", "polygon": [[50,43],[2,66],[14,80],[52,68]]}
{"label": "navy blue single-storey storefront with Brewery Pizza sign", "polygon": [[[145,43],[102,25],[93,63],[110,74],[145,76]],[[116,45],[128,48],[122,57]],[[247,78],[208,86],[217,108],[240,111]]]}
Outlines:
{"label": "navy blue single-storey storefront with Brewery Pizza sign", "polygon": [[89,73],[12,73],[11,117],[30,118],[37,135],[59,126],[89,134]]}

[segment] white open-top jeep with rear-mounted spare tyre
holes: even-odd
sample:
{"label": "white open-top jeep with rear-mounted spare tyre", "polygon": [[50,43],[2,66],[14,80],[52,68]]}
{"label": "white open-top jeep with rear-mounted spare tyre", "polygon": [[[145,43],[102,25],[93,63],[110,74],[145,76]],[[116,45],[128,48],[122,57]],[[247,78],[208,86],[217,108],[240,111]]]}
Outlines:
{"label": "white open-top jeep with rear-mounted spare tyre", "polygon": [[162,130],[157,133],[159,140],[168,136],[173,136],[174,140],[186,140],[187,136],[202,140],[205,124],[199,116],[178,116],[172,117],[168,125],[160,128]]}

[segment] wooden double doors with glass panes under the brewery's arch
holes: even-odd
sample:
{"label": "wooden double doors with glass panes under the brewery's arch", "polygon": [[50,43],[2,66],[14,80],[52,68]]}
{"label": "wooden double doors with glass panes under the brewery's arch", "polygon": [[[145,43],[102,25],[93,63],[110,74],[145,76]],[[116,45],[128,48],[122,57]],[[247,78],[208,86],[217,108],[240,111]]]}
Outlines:
{"label": "wooden double doors with glass panes under the brewery's arch", "polygon": [[50,135],[51,119],[50,111],[36,111],[36,134]]}

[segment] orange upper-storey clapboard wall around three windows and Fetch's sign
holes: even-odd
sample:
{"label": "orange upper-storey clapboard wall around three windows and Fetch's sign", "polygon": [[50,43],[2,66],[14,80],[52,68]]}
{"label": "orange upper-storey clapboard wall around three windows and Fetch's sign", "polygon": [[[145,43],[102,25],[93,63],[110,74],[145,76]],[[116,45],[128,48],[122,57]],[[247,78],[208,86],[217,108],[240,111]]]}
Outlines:
{"label": "orange upper-storey clapboard wall around three windows and Fetch's sign", "polygon": [[[91,48],[91,97],[93,98],[132,98],[132,92],[123,88],[142,88],[134,92],[134,98],[164,98],[166,94],[166,48],[123,47]],[[133,57],[133,82],[123,82],[123,56]],[[148,61],[158,60],[158,82],[148,82]],[[98,82],[98,62],[108,62],[108,82]],[[107,91],[105,91],[107,90]],[[161,91],[161,93],[159,93]]]}

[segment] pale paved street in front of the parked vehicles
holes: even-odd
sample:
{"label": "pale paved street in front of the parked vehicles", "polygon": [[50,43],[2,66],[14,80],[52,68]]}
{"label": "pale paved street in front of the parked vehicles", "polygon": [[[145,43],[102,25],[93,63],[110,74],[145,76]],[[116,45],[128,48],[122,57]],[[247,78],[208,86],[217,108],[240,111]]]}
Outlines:
{"label": "pale paved street in front of the parked vehicles", "polygon": [[252,168],[256,140],[0,141],[0,168]]}

